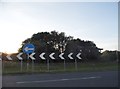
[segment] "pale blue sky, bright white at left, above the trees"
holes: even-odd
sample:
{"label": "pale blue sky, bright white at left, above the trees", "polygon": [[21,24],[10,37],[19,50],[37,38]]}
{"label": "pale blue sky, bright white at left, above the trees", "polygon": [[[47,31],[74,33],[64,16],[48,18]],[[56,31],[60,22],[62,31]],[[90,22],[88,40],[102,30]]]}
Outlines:
{"label": "pale blue sky, bright white at left, above the trees", "polygon": [[56,30],[118,49],[117,2],[1,2],[0,52],[15,53],[34,33]]}

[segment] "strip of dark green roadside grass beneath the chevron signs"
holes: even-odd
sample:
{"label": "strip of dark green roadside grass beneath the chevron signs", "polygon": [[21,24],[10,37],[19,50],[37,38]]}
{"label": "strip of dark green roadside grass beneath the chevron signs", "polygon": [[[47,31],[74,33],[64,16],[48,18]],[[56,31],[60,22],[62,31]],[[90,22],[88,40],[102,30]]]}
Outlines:
{"label": "strip of dark green roadside grass beneath the chevron signs", "polygon": [[20,62],[3,62],[2,73],[6,74],[31,74],[31,73],[58,73],[58,72],[89,72],[89,71],[109,71],[109,70],[118,70],[117,62],[87,62],[82,63],[78,62],[77,67],[75,63],[50,63],[49,69],[47,64],[42,63],[29,63],[26,62],[21,64]]}

